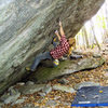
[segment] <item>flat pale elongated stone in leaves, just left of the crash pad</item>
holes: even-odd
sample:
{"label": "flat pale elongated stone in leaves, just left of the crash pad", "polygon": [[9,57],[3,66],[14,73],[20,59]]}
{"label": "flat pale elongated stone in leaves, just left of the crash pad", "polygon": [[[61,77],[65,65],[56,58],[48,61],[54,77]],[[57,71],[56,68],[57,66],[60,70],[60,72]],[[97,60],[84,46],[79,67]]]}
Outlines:
{"label": "flat pale elongated stone in leaves, just left of the crash pad", "polygon": [[68,93],[75,93],[75,92],[76,92],[76,91],[75,91],[72,87],[70,87],[70,86],[57,85],[57,84],[53,85],[53,90],[60,90],[60,91],[63,91],[63,92],[68,92]]}

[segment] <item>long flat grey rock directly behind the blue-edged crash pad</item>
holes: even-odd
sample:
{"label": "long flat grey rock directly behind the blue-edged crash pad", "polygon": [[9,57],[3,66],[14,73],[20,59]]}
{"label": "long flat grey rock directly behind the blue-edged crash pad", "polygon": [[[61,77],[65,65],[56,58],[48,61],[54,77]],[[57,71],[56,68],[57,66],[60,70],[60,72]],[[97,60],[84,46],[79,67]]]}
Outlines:
{"label": "long flat grey rock directly behind the blue-edged crash pad", "polygon": [[95,82],[82,82],[82,83],[78,83],[77,85],[75,85],[76,90],[80,90],[83,86],[98,86],[99,83],[95,83]]}

